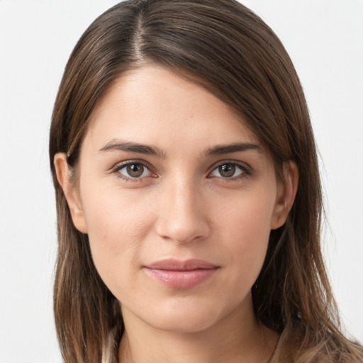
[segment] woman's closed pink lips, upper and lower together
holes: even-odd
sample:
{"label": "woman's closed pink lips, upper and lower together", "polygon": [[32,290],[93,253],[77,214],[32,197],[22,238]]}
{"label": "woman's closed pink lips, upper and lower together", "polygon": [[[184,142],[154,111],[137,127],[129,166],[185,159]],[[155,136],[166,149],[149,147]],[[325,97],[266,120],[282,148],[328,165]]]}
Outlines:
{"label": "woman's closed pink lips, upper and lower together", "polygon": [[191,289],[211,278],[220,268],[203,259],[163,259],[147,264],[145,272],[172,289]]}

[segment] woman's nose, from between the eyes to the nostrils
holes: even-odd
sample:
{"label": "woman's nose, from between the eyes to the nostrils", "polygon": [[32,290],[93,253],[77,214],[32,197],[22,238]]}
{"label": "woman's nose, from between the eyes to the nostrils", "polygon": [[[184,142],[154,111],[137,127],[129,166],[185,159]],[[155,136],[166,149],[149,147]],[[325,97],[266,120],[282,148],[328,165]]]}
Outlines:
{"label": "woman's nose, from between the eyes to the nostrils", "polygon": [[205,192],[191,180],[173,179],[162,188],[155,229],[157,235],[180,244],[208,237],[208,203]]}

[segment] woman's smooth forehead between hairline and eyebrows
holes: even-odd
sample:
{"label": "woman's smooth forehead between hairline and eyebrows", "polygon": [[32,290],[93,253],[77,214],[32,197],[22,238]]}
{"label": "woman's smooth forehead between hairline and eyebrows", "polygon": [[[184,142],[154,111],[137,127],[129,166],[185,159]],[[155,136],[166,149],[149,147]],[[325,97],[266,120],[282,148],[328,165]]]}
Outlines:
{"label": "woman's smooth forehead between hairline and eyebrows", "polygon": [[116,138],[185,149],[259,143],[228,104],[156,66],[123,73],[95,106],[84,141],[102,147]]}

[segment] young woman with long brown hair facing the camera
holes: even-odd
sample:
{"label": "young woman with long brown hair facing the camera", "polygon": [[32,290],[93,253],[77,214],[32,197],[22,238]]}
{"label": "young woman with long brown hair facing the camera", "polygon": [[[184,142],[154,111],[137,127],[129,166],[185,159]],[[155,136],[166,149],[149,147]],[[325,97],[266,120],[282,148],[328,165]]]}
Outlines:
{"label": "young woman with long brown hair facing the camera", "polygon": [[65,362],[362,362],[320,252],[301,85],[238,2],[131,0],[96,19],[50,161]]}

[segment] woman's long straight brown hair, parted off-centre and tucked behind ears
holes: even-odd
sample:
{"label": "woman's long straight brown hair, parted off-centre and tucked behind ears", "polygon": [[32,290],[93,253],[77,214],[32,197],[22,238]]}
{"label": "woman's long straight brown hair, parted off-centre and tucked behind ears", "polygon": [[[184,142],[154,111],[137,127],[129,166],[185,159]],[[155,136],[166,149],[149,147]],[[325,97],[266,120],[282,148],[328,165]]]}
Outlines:
{"label": "woman's long straight brown hair, parted off-centre and tucked behind ears", "polygon": [[271,232],[252,289],[255,313],[282,333],[291,361],[362,362],[359,345],[340,333],[320,250],[320,178],[301,84],[274,32],[235,0],[124,1],[89,26],[69,58],[50,129],[59,240],[54,310],[65,362],[101,362],[110,344],[115,353],[123,321],[87,235],[74,228],[53,160],[65,152],[69,167],[77,167],[96,102],[125,70],[144,64],[168,67],[232,106],[267,147],[278,174],[284,161],[296,163],[296,200],[285,225]]}

